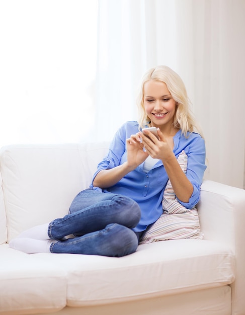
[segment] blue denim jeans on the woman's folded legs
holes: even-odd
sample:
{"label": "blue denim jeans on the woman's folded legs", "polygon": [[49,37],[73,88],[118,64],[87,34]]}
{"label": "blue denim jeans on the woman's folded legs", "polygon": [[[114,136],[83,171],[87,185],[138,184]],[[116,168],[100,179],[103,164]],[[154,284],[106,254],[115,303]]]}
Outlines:
{"label": "blue denim jeans on the woman's folded legs", "polygon": [[[72,201],[69,214],[49,223],[51,253],[71,253],[121,257],[138,247],[132,230],[140,219],[140,208],[131,198],[102,193],[93,189],[81,191]],[[74,239],[62,240],[74,234]]]}

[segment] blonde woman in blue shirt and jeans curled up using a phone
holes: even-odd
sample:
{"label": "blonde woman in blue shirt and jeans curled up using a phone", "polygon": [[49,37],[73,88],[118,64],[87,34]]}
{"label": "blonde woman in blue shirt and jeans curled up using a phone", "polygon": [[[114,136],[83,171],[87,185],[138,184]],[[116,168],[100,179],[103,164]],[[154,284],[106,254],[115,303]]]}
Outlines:
{"label": "blonde woman in blue shirt and jeans curled up using a phone", "polygon": [[[73,200],[69,214],[23,232],[10,247],[26,253],[75,253],[121,257],[136,251],[162,214],[170,179],[177,200],[193,208],[200,198],[205,143],[190,113],[180,76],[167,66],[149,69],[138,95],[139,122],[119,128],[89,189]],[[156,137],[144,127],[156,127]],[[186,175],[177,158],[188,155]],[[72,237],[67,235],[72,234]]]}

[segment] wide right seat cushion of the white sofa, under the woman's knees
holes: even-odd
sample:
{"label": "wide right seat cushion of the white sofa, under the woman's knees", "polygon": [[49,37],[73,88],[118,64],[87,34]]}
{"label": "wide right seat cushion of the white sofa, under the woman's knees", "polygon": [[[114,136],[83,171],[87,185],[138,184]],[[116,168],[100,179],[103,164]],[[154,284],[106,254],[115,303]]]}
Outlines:
{"label": "wide right seat cushion of the white sofa, under the woman's knees", "polygon": [[[36,254],[34,254],[36,255]],[[67,305],[83,306],[169,295],[229,284],[234,256],[220,243],[176,240],[140,245],[121,257],[38,254],[67,271]]]}

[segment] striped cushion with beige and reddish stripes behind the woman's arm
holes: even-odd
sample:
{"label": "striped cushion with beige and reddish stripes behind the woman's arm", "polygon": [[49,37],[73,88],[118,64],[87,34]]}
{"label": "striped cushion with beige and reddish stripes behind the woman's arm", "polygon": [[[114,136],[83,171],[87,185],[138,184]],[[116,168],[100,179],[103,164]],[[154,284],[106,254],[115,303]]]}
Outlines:
{"label": "striped cushion with beige and reddish stripes behind the woman's arm", "polygon": [[[188,156],[184,150],[177,161],[186,174]],[[147,228],[140,244],[178,239],[203,239],[197,208],[187,209],[179,203],[170,180],[162,198],[162,209],[164,213],[154,224]]]}

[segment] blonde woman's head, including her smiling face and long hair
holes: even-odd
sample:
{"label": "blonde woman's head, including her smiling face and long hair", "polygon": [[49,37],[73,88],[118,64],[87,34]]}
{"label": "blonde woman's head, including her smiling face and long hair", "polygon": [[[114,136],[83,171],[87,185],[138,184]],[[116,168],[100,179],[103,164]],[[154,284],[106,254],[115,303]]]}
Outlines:
{"label": "blonde woman's head, including her smiling face and long hair", "polygon": [[[171,73],[171,75],[170,75]],[[160,127],[170,137],[181,129],[202,135],[194,119],[186,87],[178,73],[168,66],[150,68],[144,74],[137,96],[139,124]]]}

